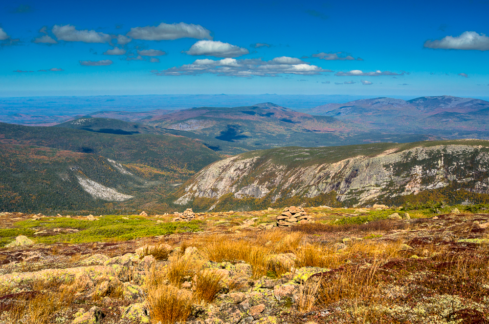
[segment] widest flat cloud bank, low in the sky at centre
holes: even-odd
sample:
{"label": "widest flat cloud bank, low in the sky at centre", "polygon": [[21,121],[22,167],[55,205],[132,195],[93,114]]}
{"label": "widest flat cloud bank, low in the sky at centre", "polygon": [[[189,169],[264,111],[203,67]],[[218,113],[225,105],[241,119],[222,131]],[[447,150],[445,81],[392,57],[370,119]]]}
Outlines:
{"label": "widest flat cloud bank, low in the sky at centre", "polygon": [[231,77],[270,77],[280,74],[314,75],[324,72],[319,66],[312,65],[296,58],[279,57],[270,61],[262,59],[236,60],[225,58],[222,60],[196,60],[192,64],[172,67],[163,71],[155,72],[156,75],[180,76],[199,75],[204,73],[217,74]]}

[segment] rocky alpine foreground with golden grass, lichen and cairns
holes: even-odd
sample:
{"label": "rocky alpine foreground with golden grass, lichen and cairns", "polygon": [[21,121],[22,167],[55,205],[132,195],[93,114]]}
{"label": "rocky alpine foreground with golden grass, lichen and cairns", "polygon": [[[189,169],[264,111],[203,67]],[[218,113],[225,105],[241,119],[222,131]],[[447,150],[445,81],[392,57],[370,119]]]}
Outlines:
{"label": "rocky alpine foreground with golden grass, lichen and cairns", "polygon": [[1,213],[0,323],[488,323],[485,207],[374,207]]}

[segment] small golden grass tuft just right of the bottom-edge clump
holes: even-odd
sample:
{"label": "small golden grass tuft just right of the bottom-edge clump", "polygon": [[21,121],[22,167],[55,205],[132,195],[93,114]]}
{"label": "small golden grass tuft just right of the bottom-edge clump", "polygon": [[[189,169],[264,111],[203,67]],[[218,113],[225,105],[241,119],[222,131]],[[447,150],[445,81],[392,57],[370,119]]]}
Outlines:
{"label": "small golden grass tuft just right of the bottom-edge clump", "polygon": [[223,288],[223,276],[215,270],[204,269],[194,276],[193,298],[197,302],[212,302]]}

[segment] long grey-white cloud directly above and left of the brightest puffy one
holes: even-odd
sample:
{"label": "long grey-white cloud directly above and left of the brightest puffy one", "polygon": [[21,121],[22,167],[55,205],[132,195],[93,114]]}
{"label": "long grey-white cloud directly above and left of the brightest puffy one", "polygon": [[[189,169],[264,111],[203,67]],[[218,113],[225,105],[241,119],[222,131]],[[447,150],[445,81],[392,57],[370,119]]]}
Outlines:
{"label": "long grey-white cloud directly above and left of the brightest puffy one", "polygon": [[133,27],[126,35],[135,40],[169,41],[179,38],[196,38],[212,40],[210,30],[193,23],[160,23],[157,26]]}

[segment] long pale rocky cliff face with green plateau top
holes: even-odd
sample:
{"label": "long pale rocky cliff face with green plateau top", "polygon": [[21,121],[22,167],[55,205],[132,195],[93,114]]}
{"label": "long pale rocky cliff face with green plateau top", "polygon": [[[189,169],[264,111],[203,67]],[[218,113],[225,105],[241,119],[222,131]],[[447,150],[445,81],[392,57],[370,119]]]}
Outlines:
{"label": "long pale rocky cliff face with green plateau top", "polygon": [[467,190],[489,192],[489,142],[460,140],[379,143],[323,148],[254,151],[202,169],[178,191],[175,203],[196,197],[315,197],[335,191],[351,204],[382,197],[416,194],[463,183]]}

